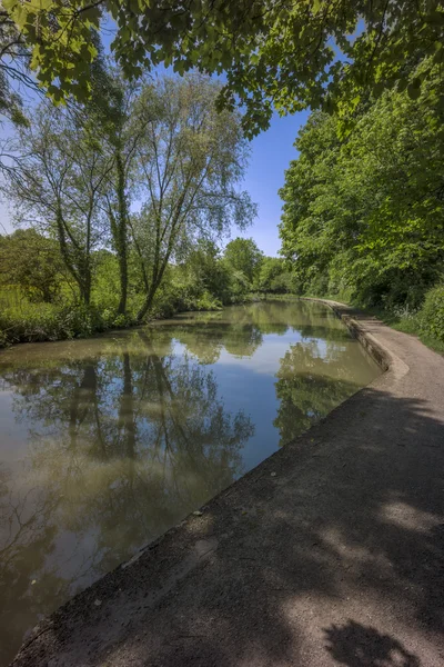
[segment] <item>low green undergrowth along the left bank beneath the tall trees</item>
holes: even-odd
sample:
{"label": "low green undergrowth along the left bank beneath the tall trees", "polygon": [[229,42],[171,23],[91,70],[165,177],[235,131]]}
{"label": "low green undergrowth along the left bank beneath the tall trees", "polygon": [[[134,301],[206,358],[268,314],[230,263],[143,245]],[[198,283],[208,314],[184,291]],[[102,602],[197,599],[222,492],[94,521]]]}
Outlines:
{"label": "low green undergrowth along the left bank beneath the tall trees", "polygon": [[[11,237],[20,233],[14,232]],[[11,237],[6,237],[7,243]],[[7,257],[8,261],[12,261],[16,255]],[[92,266],[94,280],[89,306],[79,302],[79,291],[63,272],[58,275],[57,297],[52,303],[42,302],[41,298],[37,300],[36,289],[11,285],[0,288],[0,347],[12,342],[85,337],[134,325],[144,301],[144,293],[140,291],[138,258],[134,255],[129,258],[125,315],[119,313],[120,271],[115,253],[105,249],[95,251]],[[198,268],[203,270],[198,271]],[[214,311],[220,310],[222,303],[249,300],[249,286],[242,285],[240,291],[236,287],[215,246],[201,241],[189,260],[180,266],[167,267],[148,318],[169,318],[188,310]]]}

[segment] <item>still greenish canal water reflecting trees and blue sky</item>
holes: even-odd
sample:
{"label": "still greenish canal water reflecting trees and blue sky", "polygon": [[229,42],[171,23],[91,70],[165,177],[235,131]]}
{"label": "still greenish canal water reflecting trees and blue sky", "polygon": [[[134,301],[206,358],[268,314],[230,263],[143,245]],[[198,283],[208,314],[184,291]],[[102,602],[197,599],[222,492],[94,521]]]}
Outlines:
{"label": "still greenish canal water reflecting trees and blue sky", "polygon": [[379,375],[265,301],[0,352],[0,665],[43,615]]}

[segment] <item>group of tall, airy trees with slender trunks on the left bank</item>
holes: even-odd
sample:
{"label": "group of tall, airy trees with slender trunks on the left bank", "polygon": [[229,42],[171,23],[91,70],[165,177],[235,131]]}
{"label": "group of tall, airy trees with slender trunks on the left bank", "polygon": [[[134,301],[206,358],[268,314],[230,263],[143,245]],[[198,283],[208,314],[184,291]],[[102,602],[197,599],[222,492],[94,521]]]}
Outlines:
{"label": "group of tall, airy trees with slender trunks on the left bank", "polygon": [[[50,245],[59,263],[43,267],[36,252],[16,262],[10,237],[9,281],[24,287],[37,262],[40,272],[59,273],[56,283],[70,285],[74,308],[107,311],[105,320],[119,326],[219,308],[230,300],[231,277],[214,240],[255,215],[238,187],[249,153],[238,115],[215,111],[219,86],[201,76],[122,84],[98,59],[93,84],[94,101],[67,109],[42,103],[10,142],[16,157],[3,195],[17,221],[32,226],[26,238]],[[23,233],[17,232],[22,240]],[[181,278],[173,263],[182,266]],[[176,295],[161,289],[173,275]],[[49,280],[37,278],[40,287]],[[50,300],[52,287],[44,289]]]}

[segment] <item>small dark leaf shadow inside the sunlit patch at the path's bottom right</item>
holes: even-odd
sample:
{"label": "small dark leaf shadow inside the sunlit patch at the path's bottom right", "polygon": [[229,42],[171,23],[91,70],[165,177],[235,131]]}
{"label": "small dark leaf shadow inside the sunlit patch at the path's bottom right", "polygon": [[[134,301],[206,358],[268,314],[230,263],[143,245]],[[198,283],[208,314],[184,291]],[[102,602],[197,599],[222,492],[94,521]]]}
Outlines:
{"label": "small dark leaf shadow inside the sunlit patch at the path's bottom right", "polygon": [[346,667],[420,667],[416,656],[400,641],[375,628],[353,620],[325,630],[326,649],[332,658]]}

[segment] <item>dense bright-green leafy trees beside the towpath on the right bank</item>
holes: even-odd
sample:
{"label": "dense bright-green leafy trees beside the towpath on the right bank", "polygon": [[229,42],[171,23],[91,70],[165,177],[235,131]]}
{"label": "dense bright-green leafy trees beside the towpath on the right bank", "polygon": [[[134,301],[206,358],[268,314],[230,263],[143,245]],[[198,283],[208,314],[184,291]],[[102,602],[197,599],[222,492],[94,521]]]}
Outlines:
{"label": "dense bright-green leafy trees beside the towpath on the right bank", "polygon": [[440,279],[442,93],[438,74],[417,99],[385,92],[362,109],[346,139],[336,117],[312,115],[281,190],[283,253],[305,292],[417,308]]}

